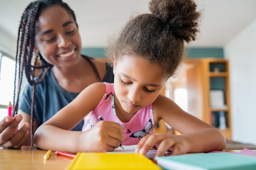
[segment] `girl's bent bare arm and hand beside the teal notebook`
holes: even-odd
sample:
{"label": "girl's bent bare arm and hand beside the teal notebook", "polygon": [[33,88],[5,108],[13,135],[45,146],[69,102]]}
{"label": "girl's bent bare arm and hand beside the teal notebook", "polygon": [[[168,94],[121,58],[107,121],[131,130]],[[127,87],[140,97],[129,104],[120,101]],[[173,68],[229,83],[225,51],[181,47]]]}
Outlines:
{"label": "girl's bent bare arm and hand beside the teal notebook", "polygon": [[155,134],[143,137],[137,151],[144,154],[156,146],[157,156],[163,156],[167,150],[172,155],[183,153],[209,152],[225,148],[225,137],[215,127],[183,111],[171,99],[159,95],[153,103],[155,122],[163,119],[181,135]]}

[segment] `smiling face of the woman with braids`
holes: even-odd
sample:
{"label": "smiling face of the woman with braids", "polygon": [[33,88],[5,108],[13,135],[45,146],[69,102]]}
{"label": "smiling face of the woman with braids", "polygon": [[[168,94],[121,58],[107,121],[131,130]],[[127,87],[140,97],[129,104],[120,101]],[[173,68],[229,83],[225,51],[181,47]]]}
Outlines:
{"label": "smiling face of the woman with braids", "polygon": [[63,7],[43,9],[36,22],[34,52],[59,68],[74,67],[81,57],[81,37],[72,15]]}

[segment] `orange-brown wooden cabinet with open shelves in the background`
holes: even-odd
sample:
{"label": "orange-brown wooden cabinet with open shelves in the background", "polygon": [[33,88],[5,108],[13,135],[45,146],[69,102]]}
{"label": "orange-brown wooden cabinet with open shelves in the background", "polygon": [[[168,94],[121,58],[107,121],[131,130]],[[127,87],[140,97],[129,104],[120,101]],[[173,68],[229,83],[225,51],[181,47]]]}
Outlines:
{"label": "orange-brown wooden cabinet with open shelves in the background", "polygon": [[[224,113],[226,127],[219,129],[227,139],[231,139],[229,61],[203,58],[185,59],[185,63],[187,65],[188,112],[217,128],[223,120],[220,120],[219,115]],[[213,91],[222,92],[222,96],[220,96],[222,98],[218,98],[218,95],[211,98],[213,95],[210,96],[210,92]],[[213,105],[213,100],[210,99],[215,100],[215,102],[223,102],[223,106],[216,107]]]}

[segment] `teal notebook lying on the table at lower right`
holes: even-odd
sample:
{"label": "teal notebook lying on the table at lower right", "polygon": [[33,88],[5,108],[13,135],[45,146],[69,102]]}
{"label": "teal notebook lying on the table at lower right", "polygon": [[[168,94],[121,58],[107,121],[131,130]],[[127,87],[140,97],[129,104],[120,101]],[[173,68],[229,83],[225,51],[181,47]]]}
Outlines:
{"label": "teal notebook lying on the table at lower right", "polygon": [[195,153],[156,157],[166,170],[256,170],[256,157],[236,153]]}

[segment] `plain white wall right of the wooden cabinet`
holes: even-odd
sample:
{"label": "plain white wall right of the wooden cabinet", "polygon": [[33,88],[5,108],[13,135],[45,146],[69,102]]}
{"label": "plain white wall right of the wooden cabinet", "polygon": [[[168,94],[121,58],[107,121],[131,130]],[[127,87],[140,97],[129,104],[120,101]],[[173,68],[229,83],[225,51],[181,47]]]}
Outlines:
{"label": "plain white wall right of the wooden cabinet", "polygon": [[256,144],[256,20],[224,47],[229,59],[233,139]]}

